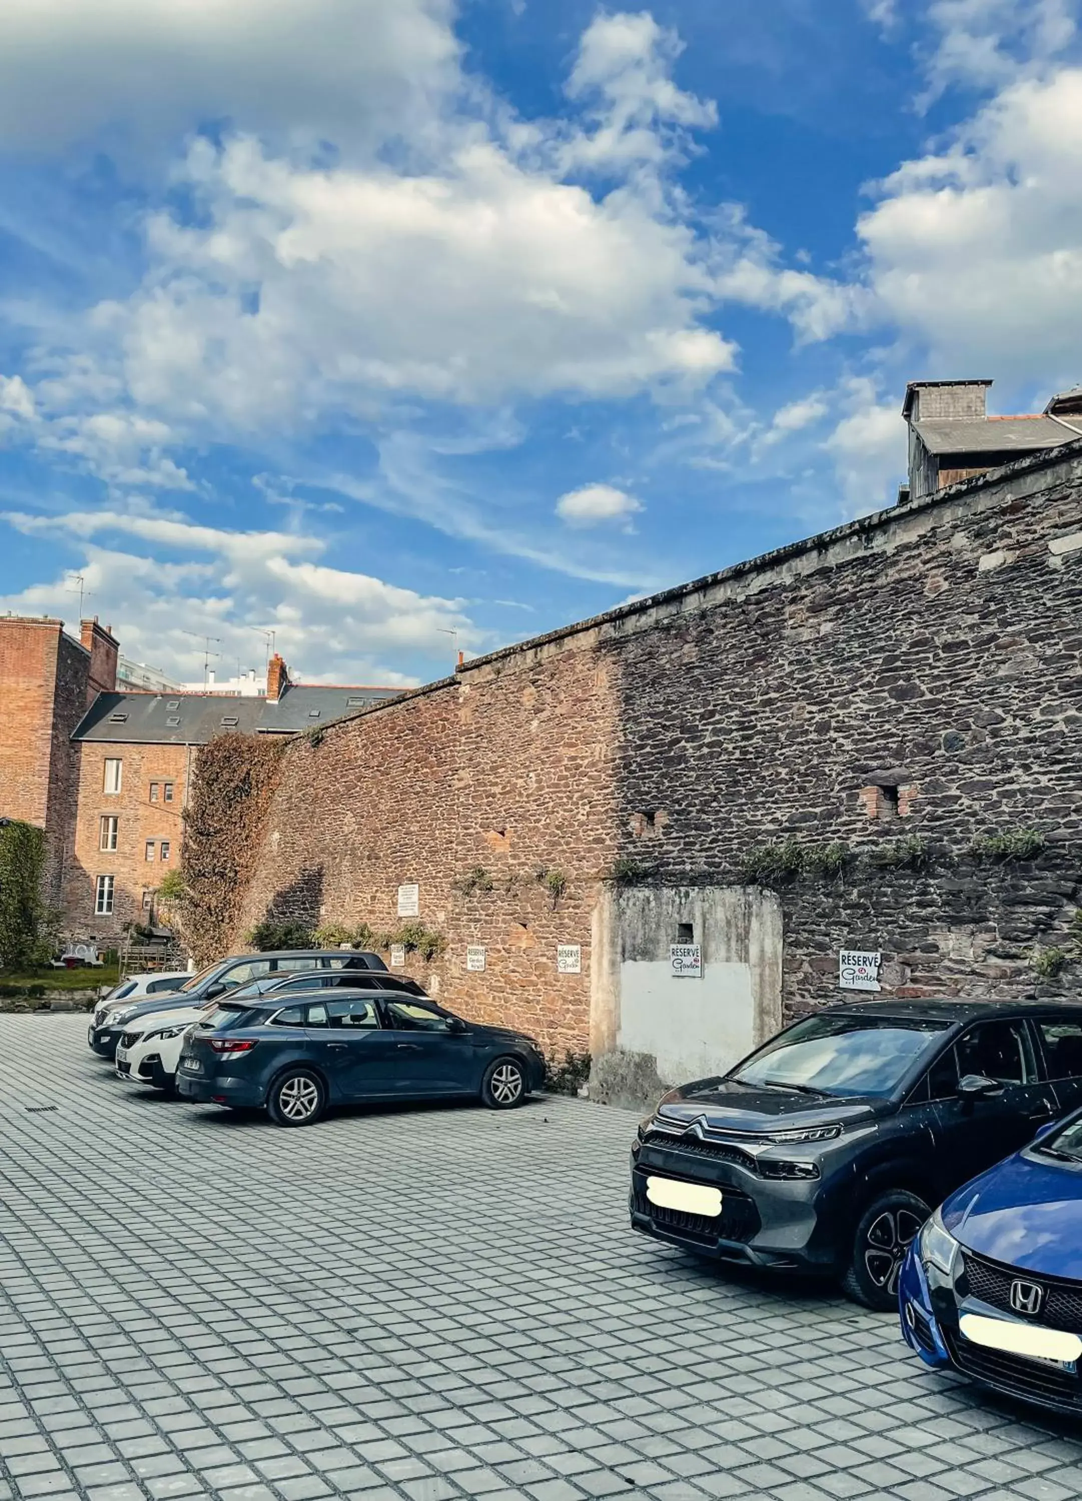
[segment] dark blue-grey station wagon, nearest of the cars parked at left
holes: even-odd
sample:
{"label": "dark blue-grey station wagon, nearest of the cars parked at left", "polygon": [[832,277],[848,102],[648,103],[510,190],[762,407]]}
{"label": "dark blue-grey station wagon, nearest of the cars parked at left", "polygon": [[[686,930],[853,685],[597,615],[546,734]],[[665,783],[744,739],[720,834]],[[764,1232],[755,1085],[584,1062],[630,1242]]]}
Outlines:
{"label": "dark blue-grey station wagon, nearest of the cars parked at left", "polygon": [[278,1126],[311,1126],[332,1105],[479,1096],[521,1105],[545,1079],[531,1037],[480,1027],[414,995],[288,991],[228,1000],[185,1034],[177,1093],[266,1106]]}

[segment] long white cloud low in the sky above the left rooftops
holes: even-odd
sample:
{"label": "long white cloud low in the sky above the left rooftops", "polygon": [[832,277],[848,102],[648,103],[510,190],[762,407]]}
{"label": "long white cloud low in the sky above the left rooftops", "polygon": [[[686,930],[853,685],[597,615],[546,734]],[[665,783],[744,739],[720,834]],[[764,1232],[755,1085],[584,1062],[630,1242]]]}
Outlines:
{"label": "long white cloud low in the sky above the left rooftops", "polygon": [[[180,680],[203,672],[203,647],[188,632],[215,638],[222,675],[233,675],[237,662],[261,666],[264,648],[252,629],[260,626],[276,632],[276,647],[299,677],[389,686],[417,680],[402,672],[404,659],[446,657],[446,630],[456,630],[470,650],[492,644],[464,600],[327,566],[321,539],[110,510],[6,512],[0,521],[81,543],[87,608],[111,620],[125,654]],[[5,596],[0,609],[71,615],[71,590],[69,572]]]}

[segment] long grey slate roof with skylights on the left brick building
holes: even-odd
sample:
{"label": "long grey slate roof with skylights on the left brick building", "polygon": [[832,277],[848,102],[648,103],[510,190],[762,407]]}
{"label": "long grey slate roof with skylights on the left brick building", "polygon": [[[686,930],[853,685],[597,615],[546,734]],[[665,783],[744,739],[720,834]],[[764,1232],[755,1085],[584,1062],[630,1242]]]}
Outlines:
{"label": "long grey slate roof with skylights on the left brick building", "polygon": [[276,704],[228,693],[99,693],[75,726],[72,740],[201,746],[230,729],[296,734],[398,698],[399,692],[396,687],[291,683]]}

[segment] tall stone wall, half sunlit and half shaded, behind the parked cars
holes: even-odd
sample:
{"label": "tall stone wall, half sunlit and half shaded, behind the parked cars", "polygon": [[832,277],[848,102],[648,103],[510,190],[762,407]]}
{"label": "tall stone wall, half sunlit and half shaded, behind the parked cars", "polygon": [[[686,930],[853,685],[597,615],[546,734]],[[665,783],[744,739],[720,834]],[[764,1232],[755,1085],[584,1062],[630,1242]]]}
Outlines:
{"label": "tall stone wall, half sunlit and half shaded, behind the parked cars", "polygon": [[1074,994],[1080,651],[1074,440],[296,738],[237,943],[416,884],[413,973],[626,1099],[837,1000],[848,950],[882,995]]}

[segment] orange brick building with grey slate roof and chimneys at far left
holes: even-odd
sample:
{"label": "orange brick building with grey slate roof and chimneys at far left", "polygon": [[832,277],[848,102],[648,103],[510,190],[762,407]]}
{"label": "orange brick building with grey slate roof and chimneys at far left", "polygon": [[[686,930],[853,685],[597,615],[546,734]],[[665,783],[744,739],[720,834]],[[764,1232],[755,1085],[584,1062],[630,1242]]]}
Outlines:
{"label": "orange brick building with grey slate roof and chimneys at far left", "polygon": [[96,620],[0,617],[0,817],[47,833],[47,898],[66,934],[116,943],[146,923],[180,860],[194,757],[213,735],[288,735],[396,689],[309,687],[270,660],[267,692],[117,692],[117,641]]}

